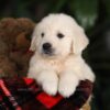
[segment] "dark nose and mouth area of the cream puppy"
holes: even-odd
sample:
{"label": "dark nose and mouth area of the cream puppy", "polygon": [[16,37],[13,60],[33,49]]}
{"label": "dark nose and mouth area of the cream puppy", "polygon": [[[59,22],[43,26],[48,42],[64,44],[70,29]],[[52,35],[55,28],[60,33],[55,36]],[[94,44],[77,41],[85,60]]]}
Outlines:
{"label": "dark nose and mouth area of the cream puppy", "polygon": [[48,55],[53,54],[53,48],[52,48],[52,44],[51,43],[44,43],[42,48],[43,48],[43,53],[44,54],[48,54]]}

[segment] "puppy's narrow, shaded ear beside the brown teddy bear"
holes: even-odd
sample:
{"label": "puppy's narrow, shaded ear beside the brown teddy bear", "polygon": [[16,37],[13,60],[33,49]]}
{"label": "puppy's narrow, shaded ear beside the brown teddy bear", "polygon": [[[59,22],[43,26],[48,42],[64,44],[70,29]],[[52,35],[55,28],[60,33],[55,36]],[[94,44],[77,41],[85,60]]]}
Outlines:
{"label": "puppy's narrow, shaded ear beside the brown teddy bear", "polygon": [[32,52],[35,52],[35,50],[36,50],[36,37],[37,37],[37,35],[36,35],[36,28],[34,29],[34,31],[33,31],[33,34],[32,34],[32,41],[31,41],[31,46],[30,46],[30,51],[32,51]]}

